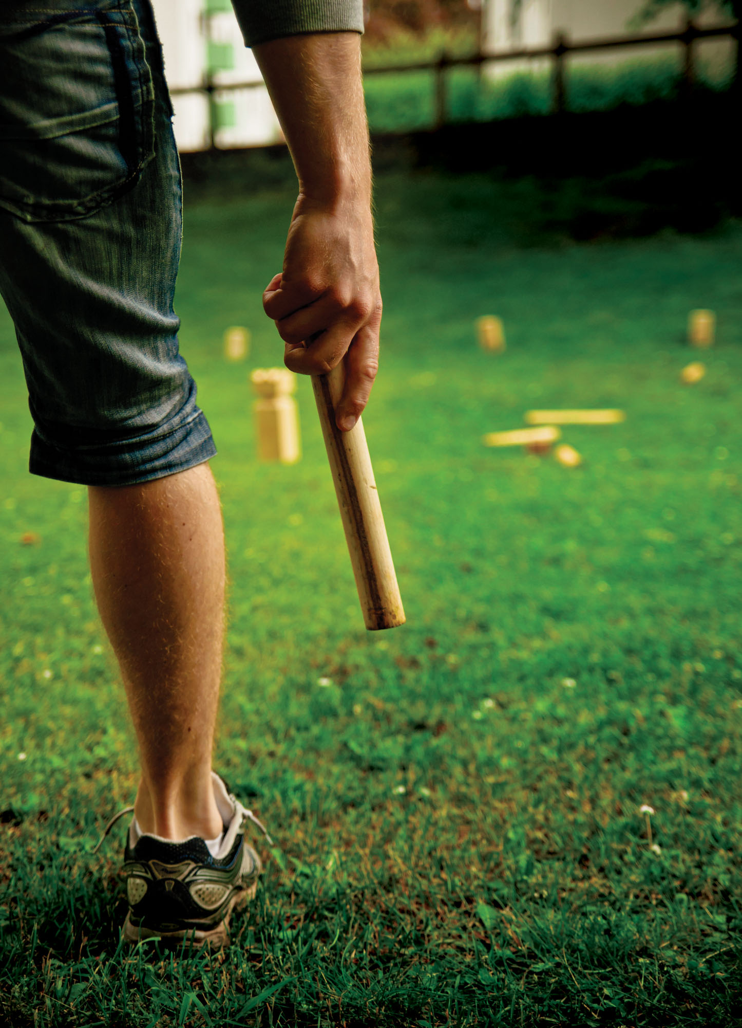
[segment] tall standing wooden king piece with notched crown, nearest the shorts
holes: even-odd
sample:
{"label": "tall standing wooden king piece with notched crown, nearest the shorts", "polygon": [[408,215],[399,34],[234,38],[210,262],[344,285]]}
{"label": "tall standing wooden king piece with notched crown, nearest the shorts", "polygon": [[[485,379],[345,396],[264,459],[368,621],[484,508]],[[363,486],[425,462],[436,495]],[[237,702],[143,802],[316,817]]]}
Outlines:
{"label": "tall standing wooden king piece with notched crown, nearest the shorts", "polygon": [[300,456],[296,378],[288,368],[256,368],[250,376],[259,399],[255,403],[258,456],[261,461],[295,464]]}

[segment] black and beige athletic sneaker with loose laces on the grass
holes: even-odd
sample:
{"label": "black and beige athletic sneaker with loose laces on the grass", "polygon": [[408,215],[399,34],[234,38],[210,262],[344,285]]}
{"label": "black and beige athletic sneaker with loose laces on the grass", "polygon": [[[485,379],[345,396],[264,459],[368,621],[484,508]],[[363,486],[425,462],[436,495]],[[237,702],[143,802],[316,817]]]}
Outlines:
{"label": "black and beige athletic sneaker with loose laces on the grass", "polygon": [[[126,878],[128,898],[123,925],[127,942],[187,940],[197,947],[225,946],[232,910],[244,907],[255,895],[262,864],[245,842],[247,821],[257,824],[269,845],[272,840],[252,810],[232,796],[224,779],[215,772],[212,776],[225,825],[216,854],[197,836],[171,842],[154,835],[137,837],[134,827],[129,828],[121,872]],[[133,810],[127,807],[116,814],[103,838],[119,817]]]}

